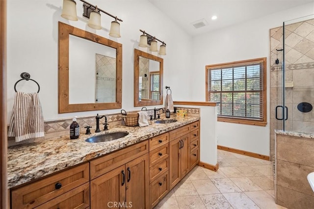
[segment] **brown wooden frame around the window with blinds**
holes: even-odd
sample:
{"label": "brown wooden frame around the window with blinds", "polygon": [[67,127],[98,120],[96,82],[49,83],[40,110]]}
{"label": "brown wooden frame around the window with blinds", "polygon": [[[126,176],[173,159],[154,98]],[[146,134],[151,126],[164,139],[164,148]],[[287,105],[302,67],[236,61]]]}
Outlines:
{"label": "brown wooden frame around the window with blinds", "polygon": [[[222,115],[217,115],[217,121],[220,122],[228,122],[228,123],[237,123],[237,124],[246,124],[246,125],[256,125],[256,126],[266,126],[267,124],[267,62],[266,62],[266,57],[262,58],[256,58],[256,59],[248,59],[248,60],[241,60],[241,61],[235,61],[235,62],[228,62],[228,63],[221,63],[221,64],[213,64],[213,65],[206,65],[205,66],[205,92],[206,92],[206,101],[210,102],[210,91],[209,85],[210,85],[210,80],[209,80],[209,71],[211,69],[217,69],[217,68],[228,68],[228,67],[238,67],[238,66],[247,66],[253,63],[262,63],[262,118],[261,119],[254,119],[254,118],[246,118],[246,117],[235,117],[235,116],[222,116]],[[247,90],[246,90],[247,91]],[[221,91],[223,92],[223,91]],[[236,92],[238,91],[226,91],[226,92]],[[217,103],[219,104],[219,103]]]}

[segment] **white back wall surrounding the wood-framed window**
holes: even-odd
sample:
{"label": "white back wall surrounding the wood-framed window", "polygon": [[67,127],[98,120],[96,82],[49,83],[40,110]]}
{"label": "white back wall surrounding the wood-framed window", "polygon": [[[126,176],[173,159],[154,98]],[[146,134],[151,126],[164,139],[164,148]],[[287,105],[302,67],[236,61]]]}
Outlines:
{"label": "white back wall surrounding the wood-framed window", "polygon": [[[310,3],[194,37],[191,54],[191,100],[205,101],[206,65],[267,57],[267,101],[270,101],[269,29],[282,26],[284,21],[313,13],[314,3]],[[269,114],[267,102],[268,123]],[[266,127],[257,127],[218,122],[217,133],[218,145],[269,155],[269,124]]]}

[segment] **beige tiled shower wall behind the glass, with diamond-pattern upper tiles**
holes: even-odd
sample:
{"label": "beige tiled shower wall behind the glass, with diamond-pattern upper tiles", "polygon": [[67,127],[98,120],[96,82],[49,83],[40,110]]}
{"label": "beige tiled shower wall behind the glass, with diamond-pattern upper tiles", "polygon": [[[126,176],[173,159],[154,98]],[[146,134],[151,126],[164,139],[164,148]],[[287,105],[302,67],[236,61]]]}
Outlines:
{"label": "beige tiled shower wall behind the glass, with diamond-pattern upper tiles", "polygon": [[[270,150],[275,151],[275,129],[283,122],[276,120],[275,109],[283,102],[283,27],[270,29]],[[279,64],[275,63],[278,58]],[[314,105],[314,19],[285,25],[285,102],[288,120],[285,131],[314,132],[314,110],[304,113],[297,105]],[[293,86],[291,86],[293,82]],[[280,109],[280,108],[279,108]],[[278,109],[278,110],[279,110]],[[278,114],[278,117],[282,117]]]}

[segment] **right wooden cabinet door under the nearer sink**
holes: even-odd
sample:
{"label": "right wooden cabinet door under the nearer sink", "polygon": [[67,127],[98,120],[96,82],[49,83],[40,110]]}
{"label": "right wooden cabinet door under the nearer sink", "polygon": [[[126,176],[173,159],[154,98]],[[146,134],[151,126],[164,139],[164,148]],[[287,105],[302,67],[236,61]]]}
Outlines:
{"label": "right wooden cabinet door under the nearer sink", "polygon": [[126,206],[134,209],[149,208],[148,154],[126,164]]}

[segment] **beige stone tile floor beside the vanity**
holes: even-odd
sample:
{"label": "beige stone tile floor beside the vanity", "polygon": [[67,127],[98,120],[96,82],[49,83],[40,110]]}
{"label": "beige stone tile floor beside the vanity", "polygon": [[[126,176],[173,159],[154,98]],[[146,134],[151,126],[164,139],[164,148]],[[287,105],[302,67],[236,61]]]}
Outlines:
{"label": "beige stone tile floor beside the vanity", "polygon": [[285,209],[275,204],[272,162],[218,150],[217,172],[196,166],[155,209]]}

